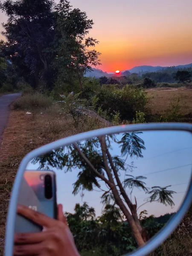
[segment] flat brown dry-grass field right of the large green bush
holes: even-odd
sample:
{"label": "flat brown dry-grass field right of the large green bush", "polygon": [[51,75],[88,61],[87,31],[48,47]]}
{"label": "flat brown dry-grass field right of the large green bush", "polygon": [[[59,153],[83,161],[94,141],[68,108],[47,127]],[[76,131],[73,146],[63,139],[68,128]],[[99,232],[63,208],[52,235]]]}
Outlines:
{"label": "flat brown dry-grass field right of the large green bush", "polygon": [[162,114],[170,105],[174,98],[180,98],[180,113],[186,115],[192,113],[192,89],[184,87],[176,90],[169,90],[169,88],[149,89],[148,96],[150,97],[149,107],[152,114]]}

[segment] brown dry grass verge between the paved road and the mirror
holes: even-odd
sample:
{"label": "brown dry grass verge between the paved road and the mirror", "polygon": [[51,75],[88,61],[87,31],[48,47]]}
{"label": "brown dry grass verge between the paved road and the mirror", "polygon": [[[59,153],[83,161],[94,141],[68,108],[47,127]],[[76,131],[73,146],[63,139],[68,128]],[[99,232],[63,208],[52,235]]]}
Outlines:
{"label": "brown dry grass verge between the paved road and the mirror", "polygon": [[[42,145],[84,131],[109,126],[99,117],[83,116],[78,127],[73,120],[63,118],[58,107],[49,108],[46,113],[27,115],[26,111],[12,111],[0,147],[0,240],[4,238],[6,215],[15,174],[22,158]],[[3,255],[4,241],[0,242]]]}

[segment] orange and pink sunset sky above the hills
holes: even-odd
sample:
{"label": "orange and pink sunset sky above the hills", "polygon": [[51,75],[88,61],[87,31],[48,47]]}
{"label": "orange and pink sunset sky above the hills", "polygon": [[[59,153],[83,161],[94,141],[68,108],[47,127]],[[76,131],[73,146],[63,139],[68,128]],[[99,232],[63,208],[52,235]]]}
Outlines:
{"label": "orange and pink sunset sky above the hills", "polygon": [[[56,0],[58,2],[58,0]],[[192,63],[191,0],[71,0],[93,19],[103,71]],[[0,22],[6,22],[5,15]]]}

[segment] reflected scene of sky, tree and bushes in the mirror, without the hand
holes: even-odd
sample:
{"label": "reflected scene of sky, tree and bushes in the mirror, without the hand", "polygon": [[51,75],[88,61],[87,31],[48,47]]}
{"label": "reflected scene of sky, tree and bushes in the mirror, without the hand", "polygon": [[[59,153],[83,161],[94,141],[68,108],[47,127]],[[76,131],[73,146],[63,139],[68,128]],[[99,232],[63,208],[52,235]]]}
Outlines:
{"label": "reflected scene of sky, tree and bushes in the mirror, without the hand", "polygon": [[[56,179],[57,203],[81,256],[123,255],[143,246],[179,210],[191,180],[191,145],[186,131],[107,134],[32,159],[23,180],[38,210],[52,216],[54,182],[47,197],[44,179]],[[23,184],[19,200],[27,197]],[[22,202],[29,201],[37,206],[30,198]]]}

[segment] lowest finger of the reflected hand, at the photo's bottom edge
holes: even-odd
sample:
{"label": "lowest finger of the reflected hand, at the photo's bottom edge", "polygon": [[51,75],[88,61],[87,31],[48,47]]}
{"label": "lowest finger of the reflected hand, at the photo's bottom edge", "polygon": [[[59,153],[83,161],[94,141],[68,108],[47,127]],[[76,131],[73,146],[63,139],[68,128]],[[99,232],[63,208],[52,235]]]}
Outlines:
{"label": "lowest finger of the reflected hand, at the photo's bottom edge", "polygon": [[15,245],[13,255],[23,255],[23,256],[34,256],[40,255],[43,249],[42,243],[40,244],[24,244],[24,245]]}

